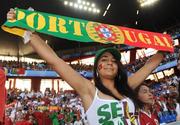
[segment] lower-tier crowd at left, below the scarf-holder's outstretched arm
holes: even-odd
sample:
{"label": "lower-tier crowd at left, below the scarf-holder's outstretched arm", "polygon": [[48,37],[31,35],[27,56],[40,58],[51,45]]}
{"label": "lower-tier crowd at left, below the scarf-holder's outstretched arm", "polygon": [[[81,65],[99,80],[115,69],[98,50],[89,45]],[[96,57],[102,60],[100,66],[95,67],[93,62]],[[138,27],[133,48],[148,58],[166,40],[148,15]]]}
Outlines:
{"label": "lower-tier crowd at left, below the scarf-holder's outstretched arm", "polygon": [[[87,124],[81,99],[74,91],[8,90],[6,123],[32,125]],[[78,124],[77,124],[78,123]]]}

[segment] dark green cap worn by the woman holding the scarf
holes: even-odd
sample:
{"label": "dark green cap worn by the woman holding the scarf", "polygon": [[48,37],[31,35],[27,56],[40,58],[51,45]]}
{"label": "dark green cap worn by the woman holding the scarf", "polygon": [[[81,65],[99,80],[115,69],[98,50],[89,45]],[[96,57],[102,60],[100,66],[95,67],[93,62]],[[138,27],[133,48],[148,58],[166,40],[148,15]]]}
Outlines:
{"label": "dark green cap worn by the woman holding the scarf", "polygon": [[100,49],[96,52],[94,63],[96,63],[105,52],[110,52],[116,60],[121,60],[121,54],[119,51],[113,47],[108,47]]}

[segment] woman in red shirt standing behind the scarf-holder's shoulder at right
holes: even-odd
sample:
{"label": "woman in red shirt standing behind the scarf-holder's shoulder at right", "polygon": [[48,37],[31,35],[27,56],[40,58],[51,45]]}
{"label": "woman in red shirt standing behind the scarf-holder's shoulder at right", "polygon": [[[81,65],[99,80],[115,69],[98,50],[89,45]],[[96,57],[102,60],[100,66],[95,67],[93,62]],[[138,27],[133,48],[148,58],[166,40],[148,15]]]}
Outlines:
{"label": "woman in red shirt standing behind the scarf-holder's shoulder at right", "polygon": [[141,84],[136,89],[136,95],[140,107],[140,125],[159,125],[157,113],[153,111],[154,98],[150,88],[146,84]]}

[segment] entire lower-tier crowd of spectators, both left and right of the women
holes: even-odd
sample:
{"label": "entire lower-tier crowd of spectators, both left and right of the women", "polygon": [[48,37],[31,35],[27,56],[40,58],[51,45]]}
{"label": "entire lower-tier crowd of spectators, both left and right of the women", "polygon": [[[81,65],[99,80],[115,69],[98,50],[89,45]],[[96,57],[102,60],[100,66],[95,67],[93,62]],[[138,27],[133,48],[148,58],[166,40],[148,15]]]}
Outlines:
{"label": "entire lower-tier crowd of spectators, both left and right of the women", "polygon": [[[176,121],[177,87],[180,77],[166,76],[158,82],[147,80],[155,98],[154,112],[160,123]],[[180,109],[178,109],[180,112]],[[180,120],[180,119],[179,119]],[[45,92],[9,89],[7,91],[6,122],[32,125],[88,125],[81,99],[73,90]],[[76,124],[78,122],[78,124]]]}

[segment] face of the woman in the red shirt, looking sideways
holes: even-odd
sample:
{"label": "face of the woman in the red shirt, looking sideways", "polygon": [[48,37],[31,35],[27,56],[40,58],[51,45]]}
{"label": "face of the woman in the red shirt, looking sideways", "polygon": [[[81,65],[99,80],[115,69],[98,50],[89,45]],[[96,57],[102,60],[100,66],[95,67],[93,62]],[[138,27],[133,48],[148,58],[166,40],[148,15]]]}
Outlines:
{"label": "face of the woman in the red shirt, looking sideways", "polygon": [[142,85],[138,92],[138,99],[144,104],[153,104],[153,94],[151,93],[149,87]]}

